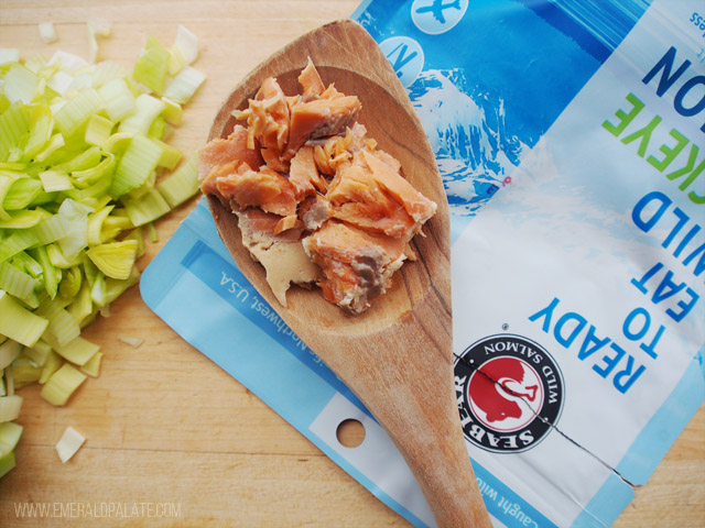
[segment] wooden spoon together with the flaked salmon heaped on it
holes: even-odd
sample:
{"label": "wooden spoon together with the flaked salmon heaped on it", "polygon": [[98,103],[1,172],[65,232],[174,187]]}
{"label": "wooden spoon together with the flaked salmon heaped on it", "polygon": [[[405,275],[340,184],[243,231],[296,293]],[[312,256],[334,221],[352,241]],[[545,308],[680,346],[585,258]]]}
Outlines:
{"label": "wooden spoon together with the flaked salmon heaped on it", "polygon": [[334,22],[259,65],[200,176],[238,267],[387,430],[438,526],[490,527],[455,397],[446,196],[377,43]]}

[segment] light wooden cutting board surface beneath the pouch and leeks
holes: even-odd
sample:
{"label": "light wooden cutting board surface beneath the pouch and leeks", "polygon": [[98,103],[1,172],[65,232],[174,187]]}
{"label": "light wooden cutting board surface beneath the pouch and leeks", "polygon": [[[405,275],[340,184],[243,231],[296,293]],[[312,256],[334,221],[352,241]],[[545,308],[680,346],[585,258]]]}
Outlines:
{"label": "light wooden cutting board surface beneath the pouch and leeks", "polygon": [[[130,65],[148,35],[171,45],[177,24],[200,40],[195,66],[206,84],[186,107],[173,142],[192,152],[204,141],[229,90],[285,43],[358,0],[0,2],[0,46],[23,56],[56,50],[87,56],[86,21],[112,22],[101,58]],[[44,44],[37,24],[55,24]],[[144,268],[195,206],[159,223]],[[21,391],[24,436],[18,468],[0,480],[0,526],[308,526],[406,527],[293,427],[153,315],[132,288],[85,336],[105,352],[99,378],[66,407]],[[131,346],[120,338],[144,340]],[[67,426],[87,441],[62,464],[54,450]],[[355,433],[352,432],[352,436]],[[617,528],[705,526],[705,409],[701,409]],[[30,503],[54,518],[19,518]],[[91,509],[90,516],[88,509]],[[112,517],[108,517],[111,515]],[[116,519],[121,517],[120,522]],[[173,517],[176,516],[176,517]]]}

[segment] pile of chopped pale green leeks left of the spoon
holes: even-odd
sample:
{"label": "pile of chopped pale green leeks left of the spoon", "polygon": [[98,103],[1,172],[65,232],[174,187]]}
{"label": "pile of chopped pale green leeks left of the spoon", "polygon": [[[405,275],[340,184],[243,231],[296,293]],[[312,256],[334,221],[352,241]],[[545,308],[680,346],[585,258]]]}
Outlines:
{"label": "pile of chopped pale green leeks left of the spoon", "polygon": [[[89,61],[0,48],[0,477],[21,435],[15,389],[39,383],[65,405],[99,374],[104,352],[82,329],[139,282],[154,220],[198,193],[195,156],[181,162],[166,139],[205,78],[196,36],[150,37],[129,69],[93,64],[109,32],[88,23]],[[40,33],[55,38],[51,23]]]}

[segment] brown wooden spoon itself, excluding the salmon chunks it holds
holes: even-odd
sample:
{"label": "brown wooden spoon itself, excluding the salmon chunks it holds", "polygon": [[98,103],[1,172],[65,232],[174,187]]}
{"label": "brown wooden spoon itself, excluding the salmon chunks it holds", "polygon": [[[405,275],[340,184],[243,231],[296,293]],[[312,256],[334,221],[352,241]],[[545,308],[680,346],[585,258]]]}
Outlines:
{"label": "brown wooden spoon itself, excluding the salmon chunks it holds", "polygon": [[242,246],[237,217],[208,197],[218,232],[242,273],[290,328],[362,400],[399,448],[441,527],[490,527],[470,465],[456,403],[451,319],[449,219],[435,157],[406,92],[377,43],[356,22],[307,33],[251,72],[218,111],[208,140],[227,138],[231,111],[247,108],[267,77],[284,94],[311,57],[324,84],[356,95],[360,121],[405,177],[438,205],[416,235],[391,289],[352,316],[324,300],[318,288],[292,287],[289,307],[271,293],[264,270]]}

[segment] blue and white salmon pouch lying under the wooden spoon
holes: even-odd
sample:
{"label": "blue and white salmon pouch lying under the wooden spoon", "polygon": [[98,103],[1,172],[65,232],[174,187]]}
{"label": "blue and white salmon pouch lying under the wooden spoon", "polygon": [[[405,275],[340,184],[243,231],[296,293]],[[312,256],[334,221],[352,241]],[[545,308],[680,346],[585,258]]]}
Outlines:
{"label": "blue and white salmon pouch lying under the wooden spoon", "polygon": [[[705,398],[705,8],[370,0],[354,18],[444,178],[459,420],[495,526],[610,526]],[[380,501],[435,526],[390,439],[246,280],[204,200],[141,290]],[[336,438],[347,419],[366,429],[356,448]]]}

